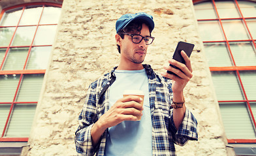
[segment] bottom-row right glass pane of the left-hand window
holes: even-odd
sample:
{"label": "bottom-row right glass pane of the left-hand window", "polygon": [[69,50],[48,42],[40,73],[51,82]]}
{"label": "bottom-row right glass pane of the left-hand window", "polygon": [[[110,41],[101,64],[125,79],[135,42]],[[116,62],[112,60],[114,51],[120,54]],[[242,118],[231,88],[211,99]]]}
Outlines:
{"label": "bottom-row right glass pane of the left-hand window", "polygon": [[28,137],[37,104],[15,104],[5,136]]}

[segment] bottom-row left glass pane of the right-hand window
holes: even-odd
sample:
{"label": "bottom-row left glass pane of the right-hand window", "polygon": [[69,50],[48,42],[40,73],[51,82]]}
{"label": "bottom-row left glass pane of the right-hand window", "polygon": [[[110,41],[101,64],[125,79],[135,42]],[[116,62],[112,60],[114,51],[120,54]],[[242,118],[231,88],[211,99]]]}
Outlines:
{"label": "bottom-row left glass pane of the right-hand window", "polygon": [[245,103],[219,104],[227,138],[255,138]]}

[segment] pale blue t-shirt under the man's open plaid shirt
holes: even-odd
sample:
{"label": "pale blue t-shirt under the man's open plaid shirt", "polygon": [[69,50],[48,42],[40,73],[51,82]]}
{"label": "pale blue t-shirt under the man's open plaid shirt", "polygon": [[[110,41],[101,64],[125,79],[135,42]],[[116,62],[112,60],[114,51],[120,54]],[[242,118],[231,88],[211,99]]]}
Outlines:
{"label": "pale blue t-shirt under the man's open plaid shirt", "polygon": [[104,155],[152,155],[152,120],[146,70],[115,70],[110,86],[110,106],[123,97],[124,90],[142,90],[144,110],[140,121],[124,121],[108,128]]}

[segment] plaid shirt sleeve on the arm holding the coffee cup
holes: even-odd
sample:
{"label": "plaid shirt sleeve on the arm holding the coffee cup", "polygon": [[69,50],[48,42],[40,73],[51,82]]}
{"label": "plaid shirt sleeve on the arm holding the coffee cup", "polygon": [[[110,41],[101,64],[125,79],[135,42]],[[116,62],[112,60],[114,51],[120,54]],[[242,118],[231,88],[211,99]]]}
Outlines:
{"label": "plaid shirt sleeve on the arm holding the coffee cup", "polygon": [[78,155],[94,155],[97,151],[97,148],[93,148],[91,139],[91,127],[96,118],[96,94],[90,86],[84,107],[78,117],[79,126],[74,138]]}

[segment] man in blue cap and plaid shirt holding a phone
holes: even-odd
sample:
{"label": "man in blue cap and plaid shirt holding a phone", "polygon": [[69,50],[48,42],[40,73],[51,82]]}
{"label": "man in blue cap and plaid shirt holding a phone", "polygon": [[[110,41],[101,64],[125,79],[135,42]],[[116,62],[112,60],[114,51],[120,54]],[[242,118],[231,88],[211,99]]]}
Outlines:
{"label": "man in blue cap and plaid shirt holding a phone", "polygon": [[[192,77],[187,55],[182,52],[185,65],[169,60],[182,72],[165,67],[178,77],[142,64],[153,28],[152,16],[143,12],[116,21],[120,64],[89,86],[75,136],[78,155],[176,155],[174,143],[197,140],[197,120],[185,108],[183,94]],[[142,90],[144,105],[138,96],[123,98],[127,89]]]}

